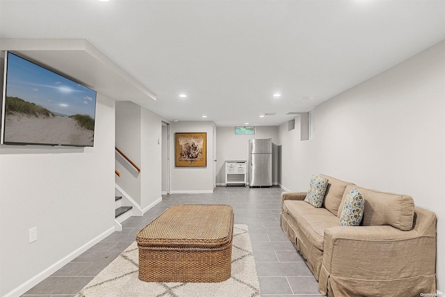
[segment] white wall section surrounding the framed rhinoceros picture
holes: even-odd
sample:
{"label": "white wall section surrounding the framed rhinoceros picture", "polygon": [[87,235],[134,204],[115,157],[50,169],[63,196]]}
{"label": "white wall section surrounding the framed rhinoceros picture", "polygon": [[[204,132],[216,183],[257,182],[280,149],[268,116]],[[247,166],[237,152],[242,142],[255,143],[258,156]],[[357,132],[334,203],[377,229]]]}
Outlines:
{"label": "white wall section surrounding the framed rhinoceros picture", "polygon": [[[207,133],[207,166],[175,167],[175,134]],[[213,193],[213,122],[173,122],[170,125],[171,193]]]}

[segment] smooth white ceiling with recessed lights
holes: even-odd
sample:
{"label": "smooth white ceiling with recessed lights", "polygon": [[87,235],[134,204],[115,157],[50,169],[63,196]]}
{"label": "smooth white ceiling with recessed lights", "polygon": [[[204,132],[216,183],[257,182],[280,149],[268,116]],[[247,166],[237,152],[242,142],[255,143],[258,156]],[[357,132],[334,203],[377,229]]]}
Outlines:
{"label": "smooth white ceiling with recessed lights", "polygon": [[0,0],[0,38],[86,39],[168,120],[280,125],[444,40],[445,1]]}

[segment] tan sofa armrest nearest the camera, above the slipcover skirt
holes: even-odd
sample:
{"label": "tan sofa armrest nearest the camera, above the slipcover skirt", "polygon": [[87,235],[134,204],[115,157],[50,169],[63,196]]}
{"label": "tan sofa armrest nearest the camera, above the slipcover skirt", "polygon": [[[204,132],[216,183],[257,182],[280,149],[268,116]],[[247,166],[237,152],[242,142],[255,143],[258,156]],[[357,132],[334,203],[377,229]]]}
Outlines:
{"label": "tan sofa armrest nearest the camera, above the slipcover skirt", "polygon": [[394,227],[325,230],[323,266],[339,278],[385,281],[435,273],[436,237]]}

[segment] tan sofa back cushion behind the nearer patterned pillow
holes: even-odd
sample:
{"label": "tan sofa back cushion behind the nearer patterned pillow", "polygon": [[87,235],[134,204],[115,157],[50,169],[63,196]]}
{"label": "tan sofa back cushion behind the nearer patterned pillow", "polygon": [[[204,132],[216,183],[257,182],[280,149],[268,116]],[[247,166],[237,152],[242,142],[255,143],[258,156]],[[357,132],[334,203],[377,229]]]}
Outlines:
{"label": "tan sofa back cushion behind the nearer patterned pillow", "polygon": [[[353,186],[347,186],[343,203]],[[414,222],[414,200],[410,195],[385,193],[355,186],[365,198],[364,226],[391,225],[399,230],[412,230]],[[338,216],[341,215],[339,209]]]}

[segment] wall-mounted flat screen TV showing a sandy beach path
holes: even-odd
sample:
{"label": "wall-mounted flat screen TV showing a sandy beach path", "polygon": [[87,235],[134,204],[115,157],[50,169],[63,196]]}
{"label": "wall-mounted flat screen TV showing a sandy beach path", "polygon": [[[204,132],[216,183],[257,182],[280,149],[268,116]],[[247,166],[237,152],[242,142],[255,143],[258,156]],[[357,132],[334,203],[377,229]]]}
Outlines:
{"label": "wall-mounted flat screen TV showing a sandy beach path", "polygon": [[1,144],[92,147],[96,92],[9,51]]}

